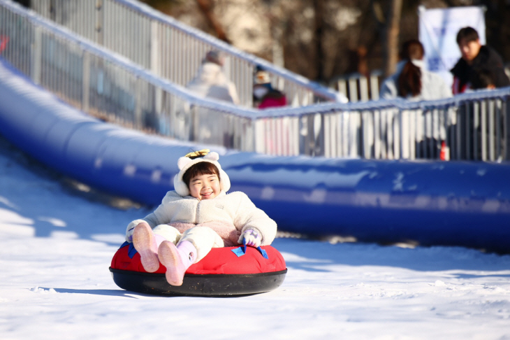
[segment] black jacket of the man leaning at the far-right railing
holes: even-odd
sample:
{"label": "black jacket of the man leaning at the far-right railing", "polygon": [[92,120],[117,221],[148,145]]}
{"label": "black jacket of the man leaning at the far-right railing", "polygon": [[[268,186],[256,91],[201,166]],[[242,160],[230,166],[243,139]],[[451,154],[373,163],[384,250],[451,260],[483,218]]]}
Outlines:
{"label": "black jacket of the man leaning at the far-right railing", "polygon": [[[462,89],[465,85],[471,83],[476,70],[479,69],[486,69],[493,73],[496,87],[510,86],[510,80],[504,73],[502,57],[493,48],[483,45],[471,65],[460,58],[457,64],[453,66],[453,69],[451,69],[453,76],[458,79],[458,88]],[[463,91],[461,90],[460,92]]]}

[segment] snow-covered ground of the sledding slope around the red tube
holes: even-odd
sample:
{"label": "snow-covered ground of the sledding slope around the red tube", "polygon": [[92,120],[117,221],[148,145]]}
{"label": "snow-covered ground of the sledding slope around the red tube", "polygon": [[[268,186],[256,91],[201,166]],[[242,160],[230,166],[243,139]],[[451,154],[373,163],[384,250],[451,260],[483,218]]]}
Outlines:
{"label": "snow-covered ground of the sledding slope around the red tube", "polygon": [[0,140],[0,339],[510,339],[510,256],[276,239],[249,297],[155,297],[108,271],[147,208],[80,193]]}

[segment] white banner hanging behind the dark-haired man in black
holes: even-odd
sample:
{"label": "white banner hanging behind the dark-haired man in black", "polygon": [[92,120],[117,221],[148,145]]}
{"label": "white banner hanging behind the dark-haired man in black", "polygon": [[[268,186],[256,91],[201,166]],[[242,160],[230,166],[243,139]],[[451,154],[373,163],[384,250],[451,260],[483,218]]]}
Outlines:
{"label": "white banner hanging behind the dark-haired man in black", "polygon": [[420,6],[418,38],[425,48],[425,65],[429,71],[437,72],[451,87],[453,76],[450,70],[460,58],[457,33],[462,27],[473,27],[478,31],[482,45],[486,43],[485,8],[467,6],[425,9]]}

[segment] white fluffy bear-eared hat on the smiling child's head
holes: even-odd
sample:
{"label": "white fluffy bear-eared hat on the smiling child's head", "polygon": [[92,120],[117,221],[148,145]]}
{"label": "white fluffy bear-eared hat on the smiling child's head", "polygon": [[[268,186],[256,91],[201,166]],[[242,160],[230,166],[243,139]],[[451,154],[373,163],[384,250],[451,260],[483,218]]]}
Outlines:
{"label": "white fluffy bear-eared hat on the smiling child's head", "polygon": [[[196,158],[192,160],[191,157]],[[219,188],[221,192],[227,192],[228,189],[231,188],[231,180],[230,178],[228,178],[226,172],[221,169],[221,165],[219,165],[218,160],[219,160],[218,153],[214,153],[214,151],[210,153],[209,149],[195,151],[194,153],[189,153],[184,157],[180,157],[179,160],[177,160],[177,167],[179,168],[179,173],[177,173],[177,175],[175,175],[175,177],[173,178],[173,186],[175,187],[175,192],[177,192],[177,194],[180,194],[183,197],[189,196],[188,185],[184,183],[184,180],[182,180],[182,176],[184,176],[184,173],[186,173],[186,171],[189,168],[191,168],[191,166],[199,162],[210,162],[218,168]]]}

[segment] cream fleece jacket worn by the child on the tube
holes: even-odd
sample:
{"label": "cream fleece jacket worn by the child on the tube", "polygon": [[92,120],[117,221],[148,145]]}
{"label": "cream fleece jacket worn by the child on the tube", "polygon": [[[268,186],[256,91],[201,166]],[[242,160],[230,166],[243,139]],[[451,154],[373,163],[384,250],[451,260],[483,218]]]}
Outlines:
{"label": "cream fleece jacket worn by the child on the tube", "polygon": [[127,230],[142,221],[153,229],[156,225],[168,224],[181,233],[197,225],[210,227],[221,236],[225,246],[238,245],[239,236],[247,229],[258,231],[262,246],[267,246],[275,239],[277,230],[276,222],[243,192],[221,192],[214,199],[201,201],[192,196],[182,197],[172,190],[153,213],[129,223]]}

